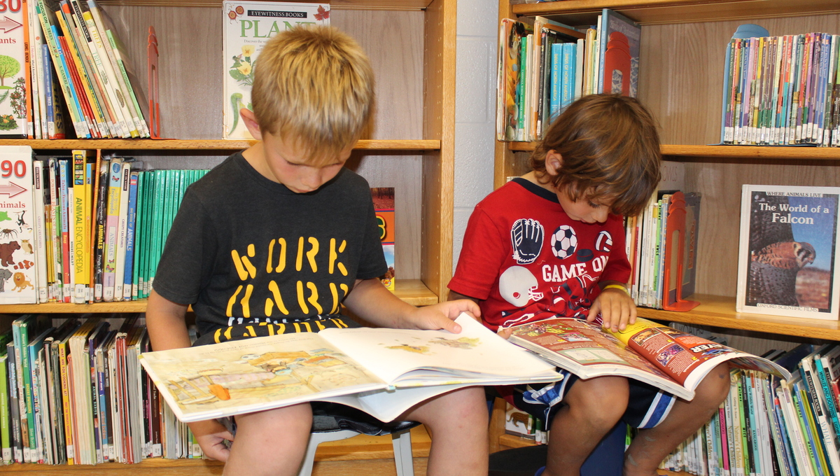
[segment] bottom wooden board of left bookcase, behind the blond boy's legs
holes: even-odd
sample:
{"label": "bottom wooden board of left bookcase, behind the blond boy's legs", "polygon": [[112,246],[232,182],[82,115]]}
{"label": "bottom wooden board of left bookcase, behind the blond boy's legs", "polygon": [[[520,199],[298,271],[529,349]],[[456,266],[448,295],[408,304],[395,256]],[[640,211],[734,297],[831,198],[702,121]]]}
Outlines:
{"label": "bottom wooden board of left bookcase, behind the blond boy's legs", "polygon": [[[412,456],[414,458],[428,458],[429,448],[432,446],[432,440],[428,436],[425,426],[417,426],[412,428]],[[358,435],[346,440],[339,440],[337,442],[325,442],[318,445],[318,451],[315,452],[315,461],[361,461],[370,459],[391,459],[394,458],[393,445],[391,444],[391,435],[382,435],[380,437],[370,437],[368,435]],[[391,463],[393,464],[393,463]],[[204,459],[164,459],[164,458],[149,458],[144,459],[137,464],[123,464],[123,463],[104,463],[91,465],[46,465],[46,464],[10,464],[0,467],[0,473],[17,473],[28,472],[37,474],[64,474],[76,472],[84,474],[96,468],[97,471],[118,470],[126,468],[134,468],[136,471],[143,473],[154,472],[155,474],[165,473],[166,468],[202,468],[202,467],[216,467],[218,473],[221,473],[223,463],[218,461],[208,461]]]}

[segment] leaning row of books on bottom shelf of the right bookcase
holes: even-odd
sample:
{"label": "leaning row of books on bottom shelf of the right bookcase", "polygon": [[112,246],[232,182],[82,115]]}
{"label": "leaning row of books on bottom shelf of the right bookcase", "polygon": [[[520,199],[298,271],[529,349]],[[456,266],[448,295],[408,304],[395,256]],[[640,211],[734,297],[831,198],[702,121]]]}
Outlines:
{"label": "leaning row of books on bottom shelf of the right bookcase", "polygon": [[727,400],[664,463],[702,476],[840,473],[840,345],[771,351],[793,378],[732,370]]}

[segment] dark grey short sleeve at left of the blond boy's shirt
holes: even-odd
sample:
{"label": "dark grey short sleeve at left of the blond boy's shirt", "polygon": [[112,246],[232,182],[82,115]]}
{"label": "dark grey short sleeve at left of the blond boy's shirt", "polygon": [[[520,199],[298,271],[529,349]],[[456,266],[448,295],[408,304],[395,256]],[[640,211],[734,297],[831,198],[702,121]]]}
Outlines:
{"label": "dark grey short sleeve at left of the blond boy's shirt", "polygon": [[155,272],[155,292],[178,304],[195,303],[212,275],[216,248],[213,223],[187,189]]}

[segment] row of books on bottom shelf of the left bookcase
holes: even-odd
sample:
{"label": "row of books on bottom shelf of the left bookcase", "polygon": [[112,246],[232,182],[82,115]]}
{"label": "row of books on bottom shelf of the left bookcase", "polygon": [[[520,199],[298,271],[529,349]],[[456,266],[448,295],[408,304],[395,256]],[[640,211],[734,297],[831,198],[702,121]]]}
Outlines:
{"label": "row of books on bottom shelf of the left bookcase", "polygon": [[201,458],[139,364],[139,353],[150,350],[139,316],[26,315],[0,343],[4,463]]}

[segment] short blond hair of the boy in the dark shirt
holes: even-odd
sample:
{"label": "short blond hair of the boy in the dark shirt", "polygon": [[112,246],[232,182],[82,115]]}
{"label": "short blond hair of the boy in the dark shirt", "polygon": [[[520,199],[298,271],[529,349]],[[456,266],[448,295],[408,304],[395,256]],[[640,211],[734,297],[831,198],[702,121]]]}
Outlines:
{"label": "short blond hair of the boy in the dark shirt", "polygon": [[334,160],[365,127],[374,101],[370,60],[354,39],[328,26],[298,26],[260,52],[251,102],[260,131],[308,155]]}

